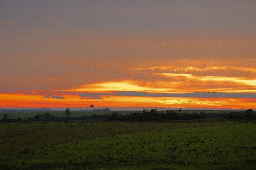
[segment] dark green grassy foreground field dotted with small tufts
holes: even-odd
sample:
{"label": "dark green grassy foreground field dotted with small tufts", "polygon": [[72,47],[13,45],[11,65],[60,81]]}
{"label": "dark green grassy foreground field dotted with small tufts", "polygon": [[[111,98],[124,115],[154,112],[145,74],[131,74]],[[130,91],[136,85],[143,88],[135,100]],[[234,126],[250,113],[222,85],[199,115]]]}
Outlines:
{"label": "dark green grassy foreground field dotted with small tufts", "polygon": [[255,129],[217,119],[1,123],[0,169],[253,170]]}

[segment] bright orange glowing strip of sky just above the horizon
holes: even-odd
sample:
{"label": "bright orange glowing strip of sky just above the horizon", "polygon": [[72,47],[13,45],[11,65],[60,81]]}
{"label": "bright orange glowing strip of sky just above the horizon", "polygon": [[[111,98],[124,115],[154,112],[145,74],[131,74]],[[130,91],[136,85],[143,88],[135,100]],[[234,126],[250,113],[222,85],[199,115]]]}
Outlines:
{"label": "bright orange glowing strip of sky just above the horizon", "polygon": [[65,99],[45,98],[42,95],[0,94],[1,108],[55,108],[55,107],[166,107],[166,108],[256,108],[256,99],[250,98],[198,98],[151,96],[100,96],[100,99],[65,95]]}

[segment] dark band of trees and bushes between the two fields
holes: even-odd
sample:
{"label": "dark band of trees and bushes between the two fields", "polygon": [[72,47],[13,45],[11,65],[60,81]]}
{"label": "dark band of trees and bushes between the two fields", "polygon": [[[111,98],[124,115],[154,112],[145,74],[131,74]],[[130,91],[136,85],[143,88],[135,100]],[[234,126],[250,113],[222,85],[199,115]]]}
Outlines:
{"label": "dark band of trees and bushes between the two fields", "polygon": [[[181,113],[181,109],[178,111],[157,111],[151,109],[151,111],[143,110],[127,114],[120,114],[118,111],[113,111],[112,114],[93,114],[83,116],[70,116],[70,110],[63,112],[63,117],[54,116],[50,113],[37,114],[34,117],[27,117],[26,119],[9,118],[8,112],[3,114],[3,119],[0,122],[33,122],[33,121],[65,121],[67,120],[109,120],[109,121],[172,121],[172,120],[192,120],[192,119],[206,119],[206,118],[218,118],[229,120],[244,120],[244,119],[256,119],[256,113],[252,109],[247,111],[230,111],[228,113]],[[64,114],[65,113],[65,114]]]}

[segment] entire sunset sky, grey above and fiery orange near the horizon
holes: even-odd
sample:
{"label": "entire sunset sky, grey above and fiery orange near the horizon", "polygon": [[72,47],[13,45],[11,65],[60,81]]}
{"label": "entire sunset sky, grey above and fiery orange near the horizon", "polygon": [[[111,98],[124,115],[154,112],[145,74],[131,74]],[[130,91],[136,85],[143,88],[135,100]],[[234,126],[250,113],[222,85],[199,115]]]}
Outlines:
{"label": "entire sunset sky, grey above and fiery orange near the horizon", "polygon": [[255,0],[1,0],[0,108],[256,109]]}

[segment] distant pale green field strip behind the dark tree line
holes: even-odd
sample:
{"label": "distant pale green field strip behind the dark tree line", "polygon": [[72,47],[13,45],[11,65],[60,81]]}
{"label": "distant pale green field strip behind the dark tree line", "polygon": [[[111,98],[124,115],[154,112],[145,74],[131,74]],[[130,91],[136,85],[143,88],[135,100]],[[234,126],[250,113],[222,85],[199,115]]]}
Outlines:
{"label": "distant pale green field strip behind the dark tree line", "polygon": [[[90,116],[93,114],[96,115],[105,115],[105,114],[112,114],[114,111],[71,111],[72,117],[79,117],[79,116]],[[143,111],[115,111],[118,112],[119,114],[126,115],[130,113],[135,113],[135,112],[143,112]],[[166,111],[158,111],[166,113]],[[181,111],[180,113],[228,113],[230,110],[188,110],[188,111]],[[240,112],[240,111],[237,111]],[[0,119],[3,118],[4,114],[8,115],[8,118],[11,119],[18,119],[20,117],[21,119],[27,119],[27,118],[33,118],[37,114],[44,114],[44,113],[50,113],[53,116],[59,116],[59,117],[65,117],[65,112],[64,111],[12,111],[12,112],[0,112]]]}

